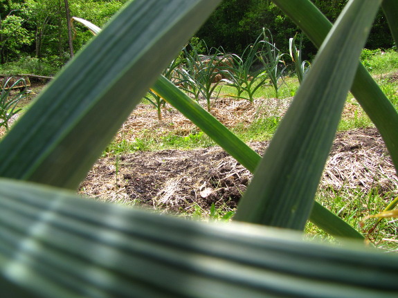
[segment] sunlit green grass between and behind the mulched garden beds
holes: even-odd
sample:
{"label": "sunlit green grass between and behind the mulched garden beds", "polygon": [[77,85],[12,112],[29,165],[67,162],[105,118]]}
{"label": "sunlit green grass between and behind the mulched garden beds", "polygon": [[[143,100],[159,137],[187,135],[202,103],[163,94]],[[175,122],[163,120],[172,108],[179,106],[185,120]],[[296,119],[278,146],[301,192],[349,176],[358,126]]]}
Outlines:
{"label": "sunlit green grass between and behind the mulched garden beds", "polygon": [[[386,55],[379,55],[381,58],[395,57],[396,53],[388,52]],[[377,56],[375,56],[377,57]],[[374,67],[380,62],[380,57],[368,60],[368,65]],[[388,68],[390,69],[390,68]],[[398,106],[398,80],[393,80],[394,71],[386,73],[385,75],[377,75],[376,80],[379,82],[381,89],[386,93],[391,102]],[[280,100],[284,100],[296,94],[299,84],[296,76],[287,76],[282,80],[282,86],[279,90]],[[236,95],[236,89],[227,84],[221,84],[217,86],[215,91],[219,93],[219,99],[231,98]],[[243,94],[244,95],[244,94]],[[255,93],[255,98],[258,99],[270,99],[275,98],[275,90],[270,84],[262,86]],[[143,104],[150,104],[146,100],[143,100]],[[262,106],[261,109],[271,109],[266,105]],[[237,122],[232,131],[241,138],[244,142],[255,142],[270,140],[278,127],[281,118],[278,115],[271,115],[269,113],[258,113],[257,117],[251,124],[244,122]],[[338,131],[347,131],[350,129],[363,129],[366,127],[374,127],[374,124],[368,118],[361,106],[354,100],[352,95],[347,96],[347,104],[345,113],[338,126]],[[160,135],[158,131],[144,131],[140,133],[140,136],[135,138],[133,141],[118,140],[114,141],[109,145],[106,150],[106,154],[112,153],[132,153],[136,151],[156,151],[162,149],[195,149],[200,147],[211,147],[215,146],[213,142],[205,133],[199,131],[199,129],[194,129],[193,131],[187,131],[181,133],[181,131],[170,131],[166,134]]]}

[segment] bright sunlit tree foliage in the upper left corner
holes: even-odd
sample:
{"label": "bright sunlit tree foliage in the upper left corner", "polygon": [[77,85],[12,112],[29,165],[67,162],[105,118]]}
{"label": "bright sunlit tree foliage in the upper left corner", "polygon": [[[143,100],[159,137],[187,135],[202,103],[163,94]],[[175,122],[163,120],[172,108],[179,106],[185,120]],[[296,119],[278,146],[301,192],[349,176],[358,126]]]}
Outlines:
{"label": "bright sunlit tree foliage in the upper left corner", "polygon": [[[71,16],[83,17],[102,26],[127,0],[71,0]],[[61,66],[69,57],[64,1],[10,0],[0,2],[1,63],[17,59],[42,59]],[[75,26],[80,31],[81,26]],[[86,29],[75,34],[79,50],[91,38]]]}

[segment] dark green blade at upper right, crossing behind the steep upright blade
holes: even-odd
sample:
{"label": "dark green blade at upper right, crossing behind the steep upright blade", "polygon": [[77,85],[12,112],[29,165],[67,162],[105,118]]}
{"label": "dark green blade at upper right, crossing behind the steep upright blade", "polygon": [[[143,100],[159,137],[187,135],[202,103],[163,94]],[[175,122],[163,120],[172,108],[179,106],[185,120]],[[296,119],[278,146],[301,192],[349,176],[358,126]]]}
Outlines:
{"label": "dark green blade at upper right, crossing behind the steep upright blade", "polygon": [[[332,28],[332,23],[327,20],[311,1],[273,0],[273,3],[283,10],[305,32],[305,35],[309,37],[315,46],[320,47],[327,32]],[[383,1],[383,8],[386,7],[391,8],[391,11],[388,13],[388,21],[390,28],[392,24],[395,24],[395,28],[392,27],[392,32],[395,32],[395,39],[397,39],[397,14],[394,12],[397,10],[397,1]],[[398,171],[398,129],[395,129],[398,127],[398,113],[362,64],[359,64],[357,69],[351,93],[359,104],[361,104],[370,120],[379,129],[392,158],[392,162],[394,162],[395,169]]]}

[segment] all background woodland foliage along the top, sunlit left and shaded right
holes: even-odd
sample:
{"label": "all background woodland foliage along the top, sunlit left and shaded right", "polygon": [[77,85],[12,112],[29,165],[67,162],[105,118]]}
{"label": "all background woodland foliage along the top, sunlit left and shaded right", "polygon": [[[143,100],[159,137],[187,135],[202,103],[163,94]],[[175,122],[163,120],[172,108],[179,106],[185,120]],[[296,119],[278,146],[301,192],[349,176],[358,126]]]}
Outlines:
{"label": "all background woodland foliage along the top, sunlit left and shaded right", "polygon": [[[127,0],[69,0],[72,17],[81,17],[102,27]],[[338,17],[346,0],[314,0],[331,21]],[[40,59],[42,64],[62,66],[69,58],[68,31],[64,1],[10,0],[0,3],[0,62]],[[275,45],[289,52],[288,40],[298,27],[272,1],[223,0],[197,35],[209,48],[223,46],[227,53],[241,55],[255,41],[262,28],[269,28]],[[73,48],[77,52],[91,38],[75,25]],[[380,11],[374,21],[366,48],[390,48],[392,41],[385,17]],[[316,47],[305,37],[304,59],[314,57]],[[48,73],[46,73],[48,74]]]}

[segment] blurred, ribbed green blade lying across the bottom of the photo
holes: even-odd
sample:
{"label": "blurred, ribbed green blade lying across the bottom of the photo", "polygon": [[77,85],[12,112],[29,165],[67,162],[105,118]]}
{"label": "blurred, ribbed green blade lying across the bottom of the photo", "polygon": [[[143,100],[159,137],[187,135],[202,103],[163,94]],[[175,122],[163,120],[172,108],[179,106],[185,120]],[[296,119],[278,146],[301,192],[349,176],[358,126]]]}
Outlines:
{"label": "blurred, ribbed green blade lying across the bottom of the photo", "polygon": [[398,257],[0,179],[2,297],[396,297]]}

